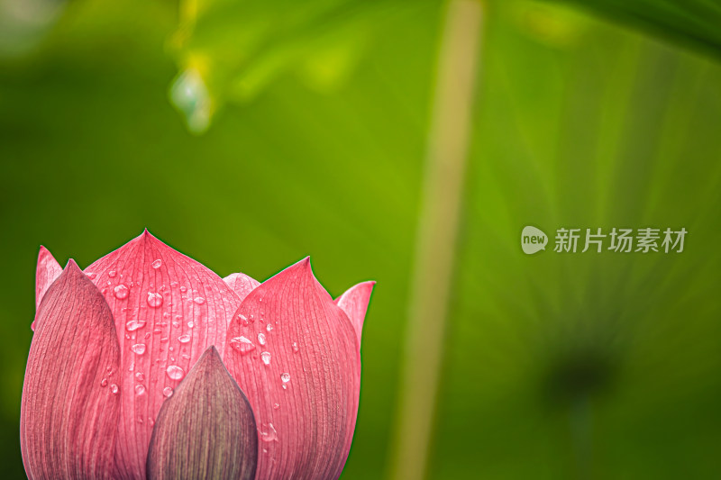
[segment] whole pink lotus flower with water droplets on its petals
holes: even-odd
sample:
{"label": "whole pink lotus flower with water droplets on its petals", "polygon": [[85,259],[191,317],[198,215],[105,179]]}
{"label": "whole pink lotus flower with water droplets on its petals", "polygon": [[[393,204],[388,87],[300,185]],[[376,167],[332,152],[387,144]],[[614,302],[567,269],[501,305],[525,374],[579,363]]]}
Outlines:
{"label": "whole pink lotus flower with water droplets on its petals", "polygon": [[85,272],[41,248],[23,385],[45,478],[337,478],[373,282],[333,301],[306,258],[260,284],[145,231]]}

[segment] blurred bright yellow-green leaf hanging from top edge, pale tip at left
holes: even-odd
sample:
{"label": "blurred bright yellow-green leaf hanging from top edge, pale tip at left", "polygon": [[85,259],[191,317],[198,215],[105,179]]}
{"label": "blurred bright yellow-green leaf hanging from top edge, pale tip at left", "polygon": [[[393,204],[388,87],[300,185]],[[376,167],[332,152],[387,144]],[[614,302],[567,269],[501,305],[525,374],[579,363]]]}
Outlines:
{"label": "blurred bright yellow-green leaf hanging from top edge, pale tip at left", "polygon": [[185,0],[171,39],[180,73],[170,99],[190,131],[205,131],[225,103],[253,100],[296,73],[315,90],[349,77],[379,19],[399,2]]}

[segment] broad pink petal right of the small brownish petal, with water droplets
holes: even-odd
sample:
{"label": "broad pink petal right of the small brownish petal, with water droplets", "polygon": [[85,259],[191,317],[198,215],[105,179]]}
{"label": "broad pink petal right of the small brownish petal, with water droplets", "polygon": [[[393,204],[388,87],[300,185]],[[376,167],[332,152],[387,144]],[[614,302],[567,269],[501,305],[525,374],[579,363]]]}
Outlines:
{"label": "broad pink petal right of the small brownish petal, with water droplets", "polygon": [[351,323],[307,258],[248,294],[228,342],[225,365],[258,424],[256,479],[341,475],[358,407],[360,353]]}

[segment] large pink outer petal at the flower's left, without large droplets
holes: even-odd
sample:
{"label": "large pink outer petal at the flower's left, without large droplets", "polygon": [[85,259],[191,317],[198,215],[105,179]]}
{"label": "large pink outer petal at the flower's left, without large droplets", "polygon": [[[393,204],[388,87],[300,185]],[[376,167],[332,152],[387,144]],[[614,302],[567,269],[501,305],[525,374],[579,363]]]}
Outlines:
{"label": "large pink outer petal at the flower's left, without large droplets", "polygon": [[20,408],[25,472],[31,479],[110,478],[121,403],[113,314],[70,260],[37,318]]}

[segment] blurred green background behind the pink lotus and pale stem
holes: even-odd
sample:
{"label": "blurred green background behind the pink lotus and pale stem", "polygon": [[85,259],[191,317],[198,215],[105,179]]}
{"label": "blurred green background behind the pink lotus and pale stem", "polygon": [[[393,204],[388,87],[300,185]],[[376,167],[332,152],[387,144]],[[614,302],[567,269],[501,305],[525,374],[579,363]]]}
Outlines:
{"label": "blurred green background behind the pink lotus and pale stem", "polygon": [[[590,4],[484,5],[429,478],[721,478],[719,8]],[[40,244],[148,227],[221,276],[378,281],[343,478],[388,476],[444,4],[0,6],[0,475]],[[689,234],[529,257],[527,224]]]}

